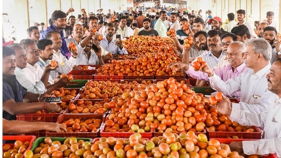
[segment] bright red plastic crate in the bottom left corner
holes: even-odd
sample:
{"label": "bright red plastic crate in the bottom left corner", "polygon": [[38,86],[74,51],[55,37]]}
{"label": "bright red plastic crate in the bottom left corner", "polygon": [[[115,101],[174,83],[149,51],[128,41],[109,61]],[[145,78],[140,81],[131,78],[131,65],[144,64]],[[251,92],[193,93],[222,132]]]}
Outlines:
{"label": "bright red plastic crate in the bottom left corner", "polygon": [[[31,149],[32,144],[33,144],[34,140],[36,139],[35,136],[3,136],[2,138],[3,138],[3,141],[21,141],[23,143],[25,143],[26,141],[29,141],[29,146],[27,147],[26,150]],[[11,145],[12,148],[14,147],[14,144],[10,144],[10,143],[6,143],[6,144]],[[4,143],[3,146],[6,144]],[[24,153],[23,153],[23,155],[20,156],[20,158],[21,157],[24,157]]]}

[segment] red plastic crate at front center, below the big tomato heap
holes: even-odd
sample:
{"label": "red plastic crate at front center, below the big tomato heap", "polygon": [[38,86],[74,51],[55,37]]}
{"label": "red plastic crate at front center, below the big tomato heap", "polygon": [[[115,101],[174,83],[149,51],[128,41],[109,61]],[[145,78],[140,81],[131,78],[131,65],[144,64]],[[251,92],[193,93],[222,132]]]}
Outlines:
{"label": "red plastic crate at front center, below the big tomato heap", "polygon": [[[134,132],[104,132],[105,126],[102,126],[100,131],[100,137],[115,137],[115,138],[129,138]],[[140,133],[141,138],[151,139],[153,137],[153,131]]]}

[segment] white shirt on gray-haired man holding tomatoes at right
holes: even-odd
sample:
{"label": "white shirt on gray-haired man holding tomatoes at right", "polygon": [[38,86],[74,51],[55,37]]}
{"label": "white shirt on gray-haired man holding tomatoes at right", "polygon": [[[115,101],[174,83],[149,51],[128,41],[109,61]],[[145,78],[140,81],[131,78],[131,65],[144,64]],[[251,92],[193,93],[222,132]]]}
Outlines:
{"label": "white shirt on gray-haired man holding tomatoes at right", "polygon": [[266,75],[270,72],[270,67],[271,64],[268,64],[256,73],[252,69],[247,69],[244,73],[226,82],[214,74],[209,77],[210,85],[213,89],[225,95],[240,90],[240,103],[232,103],[233,108],[253,113],[262,112],[267,109],[268,105],[271,105],[272,98],[270,96],[274,96],[273,93],[267,91]]}

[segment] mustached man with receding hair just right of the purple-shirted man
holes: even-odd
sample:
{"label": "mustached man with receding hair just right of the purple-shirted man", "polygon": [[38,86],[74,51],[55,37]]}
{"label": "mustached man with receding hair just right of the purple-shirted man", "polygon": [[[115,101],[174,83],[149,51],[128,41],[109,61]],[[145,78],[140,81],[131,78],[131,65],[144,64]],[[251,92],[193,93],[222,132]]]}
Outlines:
{"label": "mustached man with receding hair just right of the purple-shirted man", "polygon": [[67,46],[69,46],[70,42],[73,42],[75,44],[75,46],[77,47],[84,35],[83,26],[80,24],[75,24],[73,27],[72,33],[73,33],[73,38],[66,39]]}

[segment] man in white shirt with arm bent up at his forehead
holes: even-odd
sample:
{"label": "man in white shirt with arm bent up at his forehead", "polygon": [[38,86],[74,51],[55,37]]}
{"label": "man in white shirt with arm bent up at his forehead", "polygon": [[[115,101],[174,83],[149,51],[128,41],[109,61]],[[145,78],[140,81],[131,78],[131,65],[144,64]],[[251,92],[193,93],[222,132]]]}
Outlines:
{"label": "man in white shirt with arm bent up at his forehead", "polygon": [[87,37],[83,37],[82,41],[78,45],[77,52],[79,55],[76,59],[76,65],[104,65],[100,47],[96,46],[98,48],[98,51],[92,50],[92,47],[92,36],[89,35]]}

